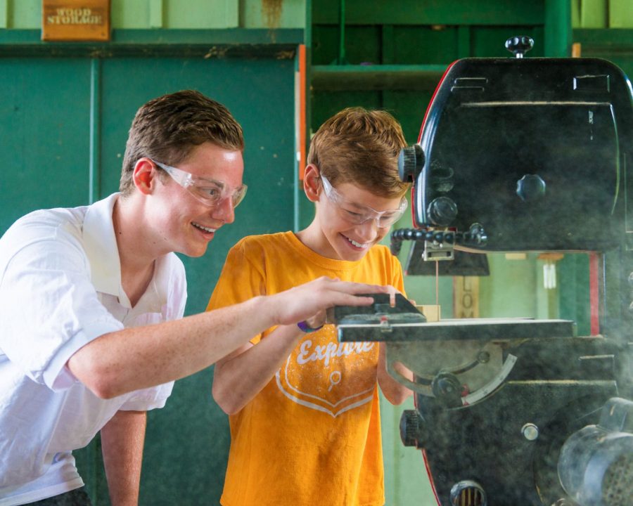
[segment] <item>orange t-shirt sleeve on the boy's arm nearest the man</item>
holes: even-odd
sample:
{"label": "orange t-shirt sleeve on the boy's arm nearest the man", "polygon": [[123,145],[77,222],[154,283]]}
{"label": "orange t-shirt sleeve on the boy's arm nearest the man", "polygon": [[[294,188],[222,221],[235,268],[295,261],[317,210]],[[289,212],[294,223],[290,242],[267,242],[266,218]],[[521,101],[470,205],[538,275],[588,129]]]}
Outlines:
{"label": "orange t-shirt sleeve on the boy's arm nearest the man", "polygon": [[[266,294],[263,254],[263,249],[253,247],[244,239],[231,248],[211,294],[207,311]],[[257,261],[258,257],[262,261]],[[248,318],[248,315],[244,315],[244,318]],[[259,334],[251,342],[259,342],[261,337]]]}

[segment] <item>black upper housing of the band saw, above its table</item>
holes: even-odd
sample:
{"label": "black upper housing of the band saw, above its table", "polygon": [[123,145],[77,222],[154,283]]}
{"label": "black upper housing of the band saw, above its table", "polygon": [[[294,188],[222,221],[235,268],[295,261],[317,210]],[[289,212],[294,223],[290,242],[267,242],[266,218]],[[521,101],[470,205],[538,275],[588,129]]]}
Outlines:
{"label": "black upper housing of the band saw, above its table", "polygon": [[478,223],[487,240],[467,246],[488,251],[618,247],[633,233],[631,108],[606,60],[456,61],[423,120],[415,226]]}

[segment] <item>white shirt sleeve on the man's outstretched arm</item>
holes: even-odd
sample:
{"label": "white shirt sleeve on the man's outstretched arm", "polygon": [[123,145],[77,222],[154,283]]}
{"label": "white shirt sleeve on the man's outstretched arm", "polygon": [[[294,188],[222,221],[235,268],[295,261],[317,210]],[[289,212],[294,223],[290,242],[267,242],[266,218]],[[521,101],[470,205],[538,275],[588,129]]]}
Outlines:
{"label": "white shirt sleeve on the man's outstretched arm", "polygon": [[13,254],[0,278],[0,321],[1,352],[53,390],[77,382],[65,367],[75,351],[123,327],[99,301],[71,238],[32,242]]}

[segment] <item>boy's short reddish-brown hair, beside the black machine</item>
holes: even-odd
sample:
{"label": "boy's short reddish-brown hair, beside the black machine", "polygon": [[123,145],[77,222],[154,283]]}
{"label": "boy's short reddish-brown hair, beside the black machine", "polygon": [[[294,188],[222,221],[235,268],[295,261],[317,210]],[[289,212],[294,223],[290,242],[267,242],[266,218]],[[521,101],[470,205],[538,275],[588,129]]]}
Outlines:
{"label": "boy's short reddish-brown hair, beside the black machine", "polygon": [[409,188],[398,176],[398,155],[407,145],[402,126],[384,110],[344,109],[319,127],[307,162],[336,186],[354,183],[383,197]]}

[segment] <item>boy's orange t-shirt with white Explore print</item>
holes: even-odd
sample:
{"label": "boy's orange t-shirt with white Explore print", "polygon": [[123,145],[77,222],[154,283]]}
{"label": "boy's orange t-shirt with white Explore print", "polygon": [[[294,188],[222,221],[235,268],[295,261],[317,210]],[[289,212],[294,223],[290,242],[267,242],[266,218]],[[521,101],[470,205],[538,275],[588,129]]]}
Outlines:
{"label": "boy's orange t-shirt with white Explore print", "polygon": [[[333,260],[286,232],[238,242],[207,309],[322,275],[404,292],[402,267],[387,247],[373,246],[359,261]],[[229,417],[222,505],[383,505],[377,365],[378,343],[339,343],[333,325],[302,337],[266,387]]]}

